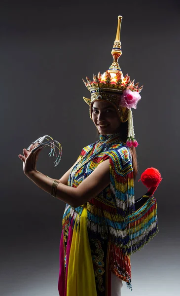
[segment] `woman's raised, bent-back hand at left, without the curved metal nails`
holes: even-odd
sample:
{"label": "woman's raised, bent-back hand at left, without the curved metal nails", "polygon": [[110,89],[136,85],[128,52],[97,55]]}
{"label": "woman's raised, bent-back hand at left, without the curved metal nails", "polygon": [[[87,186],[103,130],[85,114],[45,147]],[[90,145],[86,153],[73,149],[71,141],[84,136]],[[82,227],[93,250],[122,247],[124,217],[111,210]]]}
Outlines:
{"label": "woman's raised, bent-back hand at left, without the curved metal nails", "polygon": [[23,171],[27,177],[29,177],[29,175],[32,172],[36,171],[37,157],[38,157],[38,154],[40,153],[42,147],[37,149],[35,152],[34,151],[32,152],[32,150],[39,145],[40,145],[40,143],[38,143],[38,142],[36,144],[32,143],[29,150],[27,150],[25,148],[23,149],[24,155],[21,155],[21,154],[18,155],[18,157],[23,161]]}

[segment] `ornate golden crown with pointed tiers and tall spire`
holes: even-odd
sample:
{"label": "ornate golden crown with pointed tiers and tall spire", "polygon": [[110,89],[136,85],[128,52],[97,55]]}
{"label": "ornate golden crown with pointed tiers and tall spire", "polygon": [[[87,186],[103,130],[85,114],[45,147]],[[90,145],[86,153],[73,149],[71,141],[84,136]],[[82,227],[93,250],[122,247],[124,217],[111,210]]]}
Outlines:
{"label": "ornate golden crown with pointed tiers and tall spire", "polygon": [[83,97],[84,101],[90,106],[95,100],[108,100],[116,104],[119,95],[126,89],[131,91],[141,92],[143,86],[138,88],[139,82],[134,84],[134,80],[130,80],[130,76],[126,74],[123,76],[121,68],[118,64],[118,59],[122,54],[120,29],[122,16],[118,16],[117,33],[114,45],[111,51],[113,63],[104,74],[93,75],[93,81],[86,77],[87,82],[84,81],[85,86],[91,93],[91,99]]}

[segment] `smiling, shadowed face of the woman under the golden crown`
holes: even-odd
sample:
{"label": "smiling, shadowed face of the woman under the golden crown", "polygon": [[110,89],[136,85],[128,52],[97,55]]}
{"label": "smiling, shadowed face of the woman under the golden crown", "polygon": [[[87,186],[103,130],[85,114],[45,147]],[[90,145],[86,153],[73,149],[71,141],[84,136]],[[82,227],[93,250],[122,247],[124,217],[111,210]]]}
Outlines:
{"label": "smiling, shadowed face of the woman under the golden crown", "polygon": [[112,104],[95,101],[92,110],[93,122],[101,135],[118,132],[121,121]]}

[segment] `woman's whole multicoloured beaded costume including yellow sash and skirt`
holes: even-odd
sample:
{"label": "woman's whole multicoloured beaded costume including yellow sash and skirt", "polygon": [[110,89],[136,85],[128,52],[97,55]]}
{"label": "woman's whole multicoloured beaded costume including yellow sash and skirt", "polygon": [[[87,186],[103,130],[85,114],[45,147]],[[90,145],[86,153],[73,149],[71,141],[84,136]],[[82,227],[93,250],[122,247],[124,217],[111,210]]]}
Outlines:
{"label": "woman's whole multicoloured beaded costume including yellow sash and skirt", "polygon": [[110,296],[110,272],[131,285],[130,255],[158,232],[156,200],[135,211],[130,148],[119,134],[83,148],[68,185],[77,187],[109,158],[110,184],[87,204],[66,205],[60,245],[60,296]]}

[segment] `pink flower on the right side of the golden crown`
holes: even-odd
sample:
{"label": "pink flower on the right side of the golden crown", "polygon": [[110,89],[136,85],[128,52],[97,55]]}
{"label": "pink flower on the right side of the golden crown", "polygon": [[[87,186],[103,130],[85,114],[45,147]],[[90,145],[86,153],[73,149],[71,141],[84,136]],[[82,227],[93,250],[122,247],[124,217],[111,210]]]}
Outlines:
{"label": "pink flower on the right side of the golden crown", "polygon": [[141,96],[137,91],[131,91],[130,89],[126,89],[123,91],[121,95],[119,106],[126,107],[127,109],[136,109],[138,101],[140,99]]}

